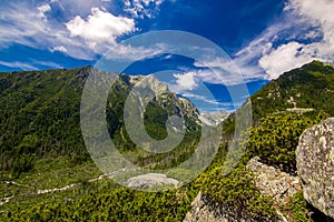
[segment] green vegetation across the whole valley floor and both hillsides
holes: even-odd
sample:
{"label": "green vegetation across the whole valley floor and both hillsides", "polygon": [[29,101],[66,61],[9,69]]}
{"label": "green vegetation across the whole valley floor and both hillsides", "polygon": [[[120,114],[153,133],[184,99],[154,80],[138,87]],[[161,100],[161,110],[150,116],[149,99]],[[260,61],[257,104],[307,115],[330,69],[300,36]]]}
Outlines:
{"label": "green vegetation across the whole valley floor and both hillsides", "polygon": [[[253,123],[245,132],[249,138],[240,144],[245,152],[232,172],[224,173],[224,163],[236,113],[220,123],[222,143],[210,165],[190,183],[164,192],[122,188],[101,176],[90,159],[80,130],[80,100],[91,69],[0,73],[0,221],[183,221],[198,192],[217,212],[228,210],[250,221],[278,221],[276,209],[293,221],[315,221],[301,192],[286,205],[262,195],[246,164],[259,157],[263,163],[296,174],[299,135],[334,115],[333,67],[314,61],[266,84],[249,98]],[[196,115],[186,115],[188,131],[176,149],[144,151],[130,141],[122,121],[131,87],[128,75],[120,74],[108,97],[107,104],[112,105],[106,105],[117,149],[134,164],[150,169],[169,169],[187,160],[200,138]],[[166,98],[146,108],[145,129],[155,139],[166,138],[169,115],[187,111],[175,102],[175,93]]]}

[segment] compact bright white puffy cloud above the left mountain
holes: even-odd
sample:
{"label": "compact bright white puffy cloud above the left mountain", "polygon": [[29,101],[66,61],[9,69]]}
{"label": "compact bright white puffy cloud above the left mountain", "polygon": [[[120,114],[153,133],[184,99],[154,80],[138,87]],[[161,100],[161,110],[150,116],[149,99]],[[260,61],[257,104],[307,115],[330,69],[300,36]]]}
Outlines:
{"label": "compact bright white puffy cloud above the left mountain", "polygon": [[85,20],[77,16],[66,23],[71,37],[81,37],[92,49],[97,44],[116,44],[116,38],[135,31],[135,21],[125,17],[116,17],[98,8]]}

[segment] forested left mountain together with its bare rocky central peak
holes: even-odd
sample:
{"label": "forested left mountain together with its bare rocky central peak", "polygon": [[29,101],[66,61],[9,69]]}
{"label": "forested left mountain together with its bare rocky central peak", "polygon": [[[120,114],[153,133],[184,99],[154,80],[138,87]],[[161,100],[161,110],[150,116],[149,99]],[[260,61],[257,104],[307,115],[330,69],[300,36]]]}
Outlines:
{"label": "forested left mountain together with its bare rocky central peak", "polygon": [[[80,130],[81,93],[90,71],[90,67],[85,67],[0,73],[1,170],[28,171],[36,160],[46,157],[69,157],[79,162],[90,159]],[[124,104],[135,85],[159,92],[145,109],[144,122],[149,135],[157,140],[167,137],[166,120],[177,115],[185,119],[188,129],[184,143],[193,140],[200,129],[199,112],[193,103],[178,98],[153,75],[120,74],[110,89],[106,110],[109,133],[122,152],[138,150],[122,133]],[[181,152],[179,149],[169,155],[178,159]],[[187,152],[185,157],[191,153]],[[145,152],[132,158],[137,164],[155,162]],[[163,160],[159,155],[159,162],[168,163]]]}

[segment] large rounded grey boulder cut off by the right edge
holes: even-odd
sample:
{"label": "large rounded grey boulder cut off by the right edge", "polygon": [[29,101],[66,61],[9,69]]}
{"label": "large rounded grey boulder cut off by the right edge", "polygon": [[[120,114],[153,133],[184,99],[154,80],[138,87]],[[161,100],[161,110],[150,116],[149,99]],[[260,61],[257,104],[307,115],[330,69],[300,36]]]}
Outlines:
{"label": "large rounded grey boulder cut off by the right edge", "polygon": [[334,219],[334,118],[305,130],[296,162],[305,200]]}

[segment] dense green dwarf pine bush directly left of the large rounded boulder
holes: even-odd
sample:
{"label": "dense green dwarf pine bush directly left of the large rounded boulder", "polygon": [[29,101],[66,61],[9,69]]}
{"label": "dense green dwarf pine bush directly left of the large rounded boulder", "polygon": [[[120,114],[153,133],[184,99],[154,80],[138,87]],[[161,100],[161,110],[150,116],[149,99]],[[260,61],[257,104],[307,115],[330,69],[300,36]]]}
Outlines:
{"label": "dense green dwarf pine bush directly left of the large rounded boulder", "polygon": [[264,163],[296,174],[295,151],[301,134],[327,118],[328,114],[321,112],[316,118],[288,113],[261,119],[258,128],[250,129],[246,161],[257,155]]}

